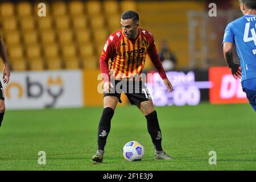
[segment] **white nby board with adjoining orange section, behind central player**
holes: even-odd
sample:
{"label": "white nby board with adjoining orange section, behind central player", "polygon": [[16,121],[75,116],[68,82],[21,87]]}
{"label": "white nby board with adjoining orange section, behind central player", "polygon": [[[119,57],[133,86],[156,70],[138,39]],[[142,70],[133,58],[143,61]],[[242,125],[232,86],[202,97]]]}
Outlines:
{"label": "white nby board with adjoining orange section, behind central player", "polygon": [[[3,84],[8,109],[44,109],[47,107],[102,106],[97,92],[100,70],[60,70],[12,72],[9,84]],[[122,104],[127,98],[122,94]]]}

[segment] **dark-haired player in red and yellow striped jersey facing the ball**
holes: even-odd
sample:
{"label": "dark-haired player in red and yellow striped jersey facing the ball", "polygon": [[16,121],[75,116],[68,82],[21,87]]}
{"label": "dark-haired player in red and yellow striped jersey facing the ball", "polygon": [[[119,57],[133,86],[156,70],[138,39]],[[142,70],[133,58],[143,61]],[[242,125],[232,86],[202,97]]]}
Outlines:
{"label": "dark-haired player in red and yellow striped jersey facing the ball", "polygon": [[144,85],[145,80],[141,78],[146,54],[162,77],[169,93],[172,92],[172,84],[163,69],[151,32],[139,28],[138,13],[122,13],[121,26],[122,30],[109,36],[100,57],[100,68],[104,76],[104,110],[98,125],[98,150],[92,160],[95,163],[103,162],[111,119],[118,101],[122,102],[121,92],[125,93],[131,104],[136,105],[146,117],[148,133],[155,148],[155,159],[172,159],[163,151],[158,117],[150,93]]}

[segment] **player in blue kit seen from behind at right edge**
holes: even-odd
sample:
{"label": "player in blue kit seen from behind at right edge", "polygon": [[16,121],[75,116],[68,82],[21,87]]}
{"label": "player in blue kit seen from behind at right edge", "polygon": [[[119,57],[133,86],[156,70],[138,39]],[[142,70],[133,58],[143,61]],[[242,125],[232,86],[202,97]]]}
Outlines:
{"label": "player in blue kit seen from behind at right edge", "polygon": [[[240,0],[244,16],[229,23],[226,27],[223,51],[226,64],[234,78],[241,78],[243,92],[256,111],[256,1]],[[233,63],[233,44],[236,45],[239,64]]]}

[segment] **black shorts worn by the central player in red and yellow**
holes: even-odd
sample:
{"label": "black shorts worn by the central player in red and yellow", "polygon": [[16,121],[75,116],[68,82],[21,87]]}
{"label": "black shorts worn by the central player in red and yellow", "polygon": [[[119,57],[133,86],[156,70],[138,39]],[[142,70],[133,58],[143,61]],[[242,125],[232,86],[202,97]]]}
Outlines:
{"label": "black shorts worn by the central player in red and yellow", "polygon": [[150,93],[143,81],[126,81],[126,80],[111,80],[113,88],[110,93],[104,93],[106,96],[115,96],[121,101],[121,93],[125,93],[132,105],[141,106],[141,102],[152,100]]}

